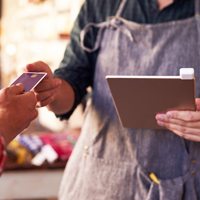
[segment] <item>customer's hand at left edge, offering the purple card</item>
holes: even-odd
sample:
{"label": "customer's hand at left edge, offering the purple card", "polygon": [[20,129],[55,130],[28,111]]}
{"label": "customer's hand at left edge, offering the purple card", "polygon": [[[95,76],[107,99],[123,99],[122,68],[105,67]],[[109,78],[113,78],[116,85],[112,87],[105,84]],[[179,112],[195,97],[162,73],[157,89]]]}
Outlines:
{"label": "customer's hand at left edge, offering the purple card", "polygon": [[34,92],[24,92],[22,84],[0,90],[0,135],[9,143],[37,117]]}

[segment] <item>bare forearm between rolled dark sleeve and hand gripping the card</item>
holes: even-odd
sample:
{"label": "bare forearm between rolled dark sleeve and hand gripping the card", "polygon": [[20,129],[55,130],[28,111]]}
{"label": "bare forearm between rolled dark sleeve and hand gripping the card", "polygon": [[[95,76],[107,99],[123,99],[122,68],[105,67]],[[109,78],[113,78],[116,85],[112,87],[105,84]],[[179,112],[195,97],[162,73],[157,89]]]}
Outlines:
{"label": "bare forearm between rolled dark sleeve and hand gripping the card", "polygon": [[62,80],[62,84],[55,94],[55,99],[48,105],[48,109],[55,114],[63,114],[71,110],[74,105],[75,94],[69,83]]}

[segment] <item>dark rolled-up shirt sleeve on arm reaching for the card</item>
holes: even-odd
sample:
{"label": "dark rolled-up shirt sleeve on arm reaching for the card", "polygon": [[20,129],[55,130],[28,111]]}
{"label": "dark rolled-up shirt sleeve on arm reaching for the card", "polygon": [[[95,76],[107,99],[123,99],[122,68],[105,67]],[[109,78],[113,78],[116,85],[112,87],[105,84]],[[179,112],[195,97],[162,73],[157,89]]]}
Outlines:
{"label": "dark rolled-up shirt sleeve on arm reaching for the card", "polygon": [[[112,0],[115,2],[115,0]],[[107,16],[112,15],[113,7],[110,0],[86,0],[75,21],[71,32],[70,42],[64,53],[63,60],[54,75],[67,81],[75,92],[74,106],[68,113],[57,115],[60,119],[70,117],[73,110],[81,102],[87,93],[87,87],[93,86],[94,68],[98,51],[88,53],[84,51],[80,43],[80,32],[90,23],[100,23],[105,21]],[[116,9],[115,9],[116,10]],[[94,12],[95,11],[95,12]],[[98,30],[91,30],[84,39],[87,47],[93,47]]]}

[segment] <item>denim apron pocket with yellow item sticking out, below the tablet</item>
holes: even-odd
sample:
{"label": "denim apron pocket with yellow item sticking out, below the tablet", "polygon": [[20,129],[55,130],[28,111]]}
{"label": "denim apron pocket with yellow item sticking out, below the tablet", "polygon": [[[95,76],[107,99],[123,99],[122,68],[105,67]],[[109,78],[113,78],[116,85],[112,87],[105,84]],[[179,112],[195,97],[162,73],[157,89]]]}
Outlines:
{"label": "denim apron pocket with yellow item sticking out, below the tablet", "polygon": [[[144,184],[146,180],[146,186]],[[197,200],[194,179],[191,172],[188,171],[183,176],[172,179],[159,179],[155,174],[147,175],[140,167],[137,175],[138,184],[143,181],[143,188],[149,189],[145,200]],[[141,188],[140,188],[141,189]]]}

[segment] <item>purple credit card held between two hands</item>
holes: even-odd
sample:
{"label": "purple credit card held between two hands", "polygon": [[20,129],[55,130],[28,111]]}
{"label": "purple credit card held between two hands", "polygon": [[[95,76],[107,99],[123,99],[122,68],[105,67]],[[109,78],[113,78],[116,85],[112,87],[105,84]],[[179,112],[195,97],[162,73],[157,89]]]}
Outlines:
{"label": "purple credit card held between two hands", "polygon": [[22,83],[25,92],[34,89],[47,75],[45,72],[24,72],[11,85]]}

